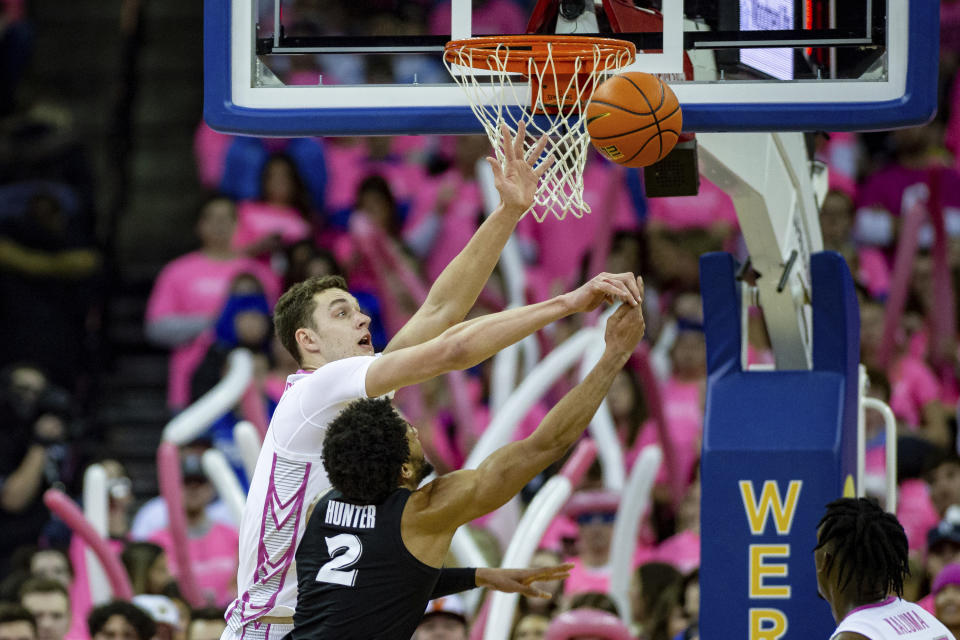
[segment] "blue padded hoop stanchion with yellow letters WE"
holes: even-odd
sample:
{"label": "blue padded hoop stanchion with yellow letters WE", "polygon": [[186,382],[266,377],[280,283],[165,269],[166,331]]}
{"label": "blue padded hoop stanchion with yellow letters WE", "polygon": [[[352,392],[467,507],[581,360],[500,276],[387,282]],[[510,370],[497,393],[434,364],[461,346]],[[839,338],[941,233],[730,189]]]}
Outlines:
{"label": "blue padded hoop stanchion with yellow letters WE", "polygon": [[859,314],[840,255],[814,254],[810,270],[813,369],[743,371],[736,265],[700,260],[700,628],[725,638],[826,638],[835,626],[811,550],[824,505],[855,492]]}

